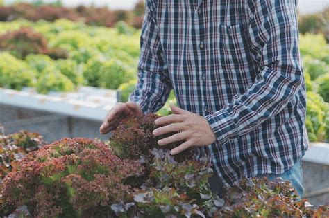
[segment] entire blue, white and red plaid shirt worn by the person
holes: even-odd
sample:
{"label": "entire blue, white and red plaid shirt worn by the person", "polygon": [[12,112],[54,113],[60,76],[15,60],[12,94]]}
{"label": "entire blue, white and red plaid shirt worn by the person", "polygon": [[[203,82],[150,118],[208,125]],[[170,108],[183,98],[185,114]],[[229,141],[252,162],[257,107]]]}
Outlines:
{"label": "entire blue, white and red plaid shirt worn by the person", "polygon": [[308,147],[296,1],[148,1],[130,101],[204,116],[224,182],[282,174]]}

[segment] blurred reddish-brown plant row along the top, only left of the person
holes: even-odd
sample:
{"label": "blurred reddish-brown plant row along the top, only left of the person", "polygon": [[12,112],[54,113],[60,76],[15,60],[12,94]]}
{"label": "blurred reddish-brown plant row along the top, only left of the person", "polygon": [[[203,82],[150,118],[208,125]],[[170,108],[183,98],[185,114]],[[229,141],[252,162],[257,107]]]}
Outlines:
{"label": "blurred reddish-brown plant row along the top, only left of the person", "polygon": [[78,6],[67,8],[60,3],[43,4],[42,1],[32,3],[16,3],[12,6],[0,6],[0,21],[12,21],[26,19],[29,21],[56,21],[57,19],[69,19],[81,21],[92,26],[115,26],[117,21],[125,21],[127,24],[140,28],[144,17],[144,1],[138,1],[132,11],[109,10],[106,7],[95,8],[93,6]]}

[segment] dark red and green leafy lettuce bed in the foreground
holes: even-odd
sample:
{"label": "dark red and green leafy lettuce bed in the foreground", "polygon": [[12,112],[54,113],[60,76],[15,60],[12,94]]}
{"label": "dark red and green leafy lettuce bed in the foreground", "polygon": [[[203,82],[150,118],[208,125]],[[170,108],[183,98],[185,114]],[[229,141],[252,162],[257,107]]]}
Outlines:
{"label": "dark red and green leafy lettuce bed in the foreground", "polygon": [[127,118],[105,143],[3,136],[1,217],[329,216],[329,206],[315,208],[282,179],[242,179],[212,192],[209,157],[196,161],[193,149],[171,156],[176,145],[158,147],[155,118]]}

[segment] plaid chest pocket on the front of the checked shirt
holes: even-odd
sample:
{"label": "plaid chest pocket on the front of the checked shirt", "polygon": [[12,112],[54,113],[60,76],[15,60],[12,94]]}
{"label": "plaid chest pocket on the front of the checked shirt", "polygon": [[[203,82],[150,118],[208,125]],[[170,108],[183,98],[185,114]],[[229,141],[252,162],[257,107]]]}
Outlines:
{"label": "plaid chest pocket on the front of the checked shirt", "polygon": [[248,47],[248,28],[243,24],[219,24],[217,30],[221,68],[228,71],[250,71],[253,68],[253,61]]}

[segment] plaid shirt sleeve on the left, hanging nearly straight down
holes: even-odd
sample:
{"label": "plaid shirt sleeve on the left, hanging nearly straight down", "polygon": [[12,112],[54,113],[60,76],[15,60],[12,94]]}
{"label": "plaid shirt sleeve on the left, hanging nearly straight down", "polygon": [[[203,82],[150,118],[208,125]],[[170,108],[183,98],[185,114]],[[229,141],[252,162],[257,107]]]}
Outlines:
{"label": "plaid shirt sleeve on the left, hanging nearly straight down", "polygon": [[154,17],[154,10],[148,1],[140,37],[138,82],[129,96],[129,101],[140,105],[144,113],[158,111],[165,105],[172,89]]}

